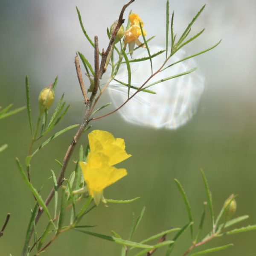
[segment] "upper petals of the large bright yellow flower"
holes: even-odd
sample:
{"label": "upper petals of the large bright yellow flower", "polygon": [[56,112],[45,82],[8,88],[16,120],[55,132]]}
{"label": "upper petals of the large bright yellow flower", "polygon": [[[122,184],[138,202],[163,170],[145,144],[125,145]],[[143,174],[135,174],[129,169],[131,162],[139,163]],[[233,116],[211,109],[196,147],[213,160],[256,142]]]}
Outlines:
{"label": "upper petals of the large bright yellow flower", "polygon": [[109,157],[109,166],[131,157],[125,151],[125,141],[116,138],[108,131],[94,130],[88,134],[90,151],[101,152]]}

